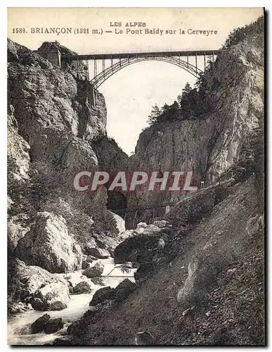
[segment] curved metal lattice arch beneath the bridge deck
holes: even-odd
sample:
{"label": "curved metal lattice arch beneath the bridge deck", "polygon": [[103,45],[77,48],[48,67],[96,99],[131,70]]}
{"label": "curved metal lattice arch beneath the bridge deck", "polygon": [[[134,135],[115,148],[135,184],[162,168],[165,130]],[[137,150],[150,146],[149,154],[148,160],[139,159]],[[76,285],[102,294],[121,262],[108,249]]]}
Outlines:
{"label": "curved metal lattice arch beneath the bridge deck", "polygon": [[122,70],[122,68],[142,61],[164,61],[166,63],[171,63],[172,65],[176,65],[179,68],[186,70],[195,77],[199,77],[204,74],[204,72],[200,70],[200,68],[197,68],[197,66],[174,56],[139,56],[123,58],[119,62],[110,65],[108,68],[105,68],[105,70],[96,75],[96,77],[91,80],[91,84],[97,89],[101,86],[101,84],[103,84],[103,82],[108,80],[108,78],[117,73],[119,70]]}

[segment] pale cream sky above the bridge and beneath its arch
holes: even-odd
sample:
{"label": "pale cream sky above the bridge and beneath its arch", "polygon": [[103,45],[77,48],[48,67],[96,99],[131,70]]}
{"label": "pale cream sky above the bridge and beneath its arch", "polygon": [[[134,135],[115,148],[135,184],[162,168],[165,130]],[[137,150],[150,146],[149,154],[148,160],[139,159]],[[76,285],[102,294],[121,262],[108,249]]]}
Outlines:
{"label": "pale cream sky above the bridge and beneath its arch", "polygon": [[[79,54],[219,49],[234,28],[251,23],[262,13],[262,8],[9,8],[8,37],[32,50],[45,41],[58,40]],[[115,22],[116,27],[112,26]],[[134,22],[145,23],[145,27],[126,27]],[[89,34],[37,33],[37,28],[46,27],[68,27],[73,33],[79,27],[89,28]],[[25,32],[16,33],[16,28],[25,28]],[[141,28],[159,28],[163,34],[126,32]],[[93,29],[103,33],[92,34]],[[115,29],[123,34],[115,34]],[[186,34],[179,34],[179,29]],[[176,30],[176,34],[166,30]],[[188,34],[188,30],[216,30],[217,34]],[[193,87],[195,77],[160,61],[135,63],[112,75],[98,89],[107,105],[108,135],[130,155],[138,135],[148,126],[152,106],[172,103],[186,82]]]}

